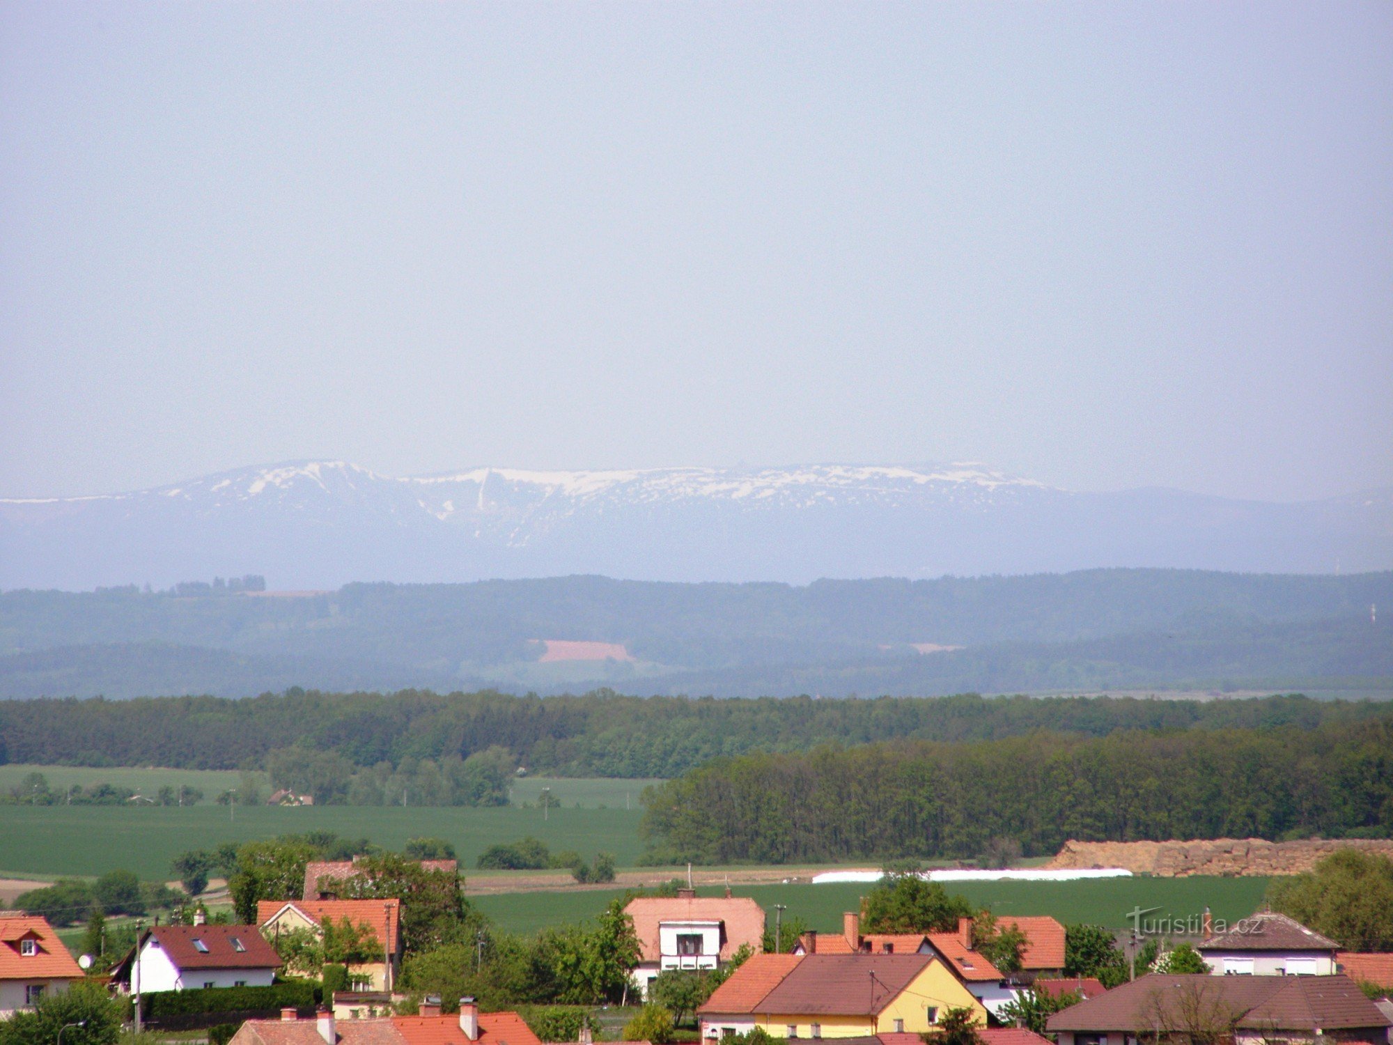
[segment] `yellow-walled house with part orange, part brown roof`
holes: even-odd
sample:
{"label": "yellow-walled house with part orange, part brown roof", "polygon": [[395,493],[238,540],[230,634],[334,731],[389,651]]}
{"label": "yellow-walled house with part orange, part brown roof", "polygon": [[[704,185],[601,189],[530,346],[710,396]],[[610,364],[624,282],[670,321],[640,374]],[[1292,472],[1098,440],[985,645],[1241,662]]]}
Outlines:
{"label": "yellow-walled house with part orange, part brown roof", "polygon": [[702,1038],[754,1027],[776,1038],[922,1034],[949,1009],[986,1009],[936,954],[756,954],[696,1016]]}

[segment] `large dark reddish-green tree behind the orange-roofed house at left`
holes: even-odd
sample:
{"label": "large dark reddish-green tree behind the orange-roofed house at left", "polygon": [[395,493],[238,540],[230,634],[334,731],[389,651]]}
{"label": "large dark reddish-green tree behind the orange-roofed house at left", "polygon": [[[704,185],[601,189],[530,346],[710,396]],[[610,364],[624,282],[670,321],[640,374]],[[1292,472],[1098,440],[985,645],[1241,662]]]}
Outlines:
{"label": "large dark reddish-green tree behind the orange-roofed house at left", "polygon": [[397,853],[364,857],[343,881],[344,900],[401,900],[401,943],[421,953],[449,942],[472,942],[483,918],[464,899],[453,871],[432,871]]}

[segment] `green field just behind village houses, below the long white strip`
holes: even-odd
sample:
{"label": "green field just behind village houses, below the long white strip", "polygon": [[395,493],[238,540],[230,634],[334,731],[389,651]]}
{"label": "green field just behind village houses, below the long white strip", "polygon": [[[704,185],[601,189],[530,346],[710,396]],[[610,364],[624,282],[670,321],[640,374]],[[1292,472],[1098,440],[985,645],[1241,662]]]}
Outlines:
{"label": "green field just behind village houses, below the long white strip", "polygon": [[[1096,882],[965,882],[950,885],[976,906],[996,914],[1050,914],[1061,922],[1092,922],[1127,928],[1127,911],[1159,907],[1146,918],[1185,918],[1208,904],[1215,918],[1236,921],[1262,904],[1266,878],[1119,878]],[[736,886],[737,896],[754,897],[773,918],[776,903],[787,904],[786,918],[801,917],[812,928],[841,929],[841,913],[857,910],[865,885]],[[719,896],[717,889],[701,895]],[[574,890],[479,896],[474,903],[510,932],[536,932],[546,925],[582,921],[598,914],[618,892]]]}

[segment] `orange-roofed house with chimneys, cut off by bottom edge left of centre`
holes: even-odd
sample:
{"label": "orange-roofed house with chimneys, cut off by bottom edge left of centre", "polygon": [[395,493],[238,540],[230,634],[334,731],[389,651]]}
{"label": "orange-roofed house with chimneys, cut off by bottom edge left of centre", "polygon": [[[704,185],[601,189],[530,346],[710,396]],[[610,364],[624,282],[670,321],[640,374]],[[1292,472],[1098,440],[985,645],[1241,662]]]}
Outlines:
{"label": "orange-roofed house with chimneys, cut off by bottom edge left of centre", "polygon": [[542,1045],[517,1013],[481,1013],[472,998],[460,999],[456,1016],[440,1013],[440,999],[428,998],[417,1016],[338,1020],[320,1006],[301,1020],[283,1009],[279,1020],[247,1020],[231,1045]]}

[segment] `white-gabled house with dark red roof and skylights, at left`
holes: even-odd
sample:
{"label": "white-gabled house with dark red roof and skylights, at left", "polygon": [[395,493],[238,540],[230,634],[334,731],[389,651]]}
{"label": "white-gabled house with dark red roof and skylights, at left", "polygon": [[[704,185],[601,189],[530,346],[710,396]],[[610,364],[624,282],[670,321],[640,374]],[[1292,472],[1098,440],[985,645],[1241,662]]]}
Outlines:
{"label": "white-gabled house with dark red roof and skylights, at left", "polygon": [[255,925],[156,925],[111,970],[127,993],[270,986],[280,956]]}

